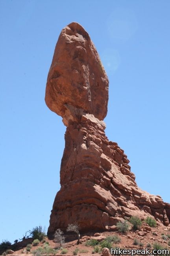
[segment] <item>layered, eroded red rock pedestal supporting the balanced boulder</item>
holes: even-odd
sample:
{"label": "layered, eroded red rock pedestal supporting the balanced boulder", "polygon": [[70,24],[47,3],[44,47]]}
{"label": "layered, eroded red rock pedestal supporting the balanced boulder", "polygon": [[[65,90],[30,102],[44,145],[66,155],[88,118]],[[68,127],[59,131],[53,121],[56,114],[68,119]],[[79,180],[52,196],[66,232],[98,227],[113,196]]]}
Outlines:
{"label": "layered, eroded red rock pedestal supporting the balanced boulder", "polygon": [[93,115],[82,115],[69,124],[61,161],[61,189],[55,197],[48,236],[78,222],[81,232],[113,230],[118,220],[152,215],[165,226],[170,204],[141,190],[124,151],[107,139],[105,124]]}

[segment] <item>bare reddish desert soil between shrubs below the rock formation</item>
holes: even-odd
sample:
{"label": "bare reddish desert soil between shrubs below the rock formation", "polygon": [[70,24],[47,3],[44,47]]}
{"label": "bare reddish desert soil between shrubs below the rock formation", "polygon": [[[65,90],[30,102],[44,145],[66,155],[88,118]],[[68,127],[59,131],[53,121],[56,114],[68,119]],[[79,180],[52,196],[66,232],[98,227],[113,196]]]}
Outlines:
{"label": "bare reddish desert soil between shrubs below the rock formation", "polygon": [[[142,235],[139,235],[140,233],[139,232],[143,232],[143,230],[145,229],[145,227],[148,227],[148,229],[150,229],[150,231],[148,231],[148,233],[146,233],[146,235],[142,236]],[[156,234],[153,235],[153,232],[155,232]],[[138,234],[139,233],[139,234]],[[104,237],[107,237],[109,235],[118,235],[118,237],[120,237],[121,241],[120,243],[118,244],[113,244],[113,247],[119,247],[119,248],[129,248],[129,249],[144,249],[147,247],[147,244],[150,243],[151,245],[153,245],[153,243],[157,242],[159,244],[161,244],[163,247],[166,247],[168,249],[170,249],[170,246],[168,246],[168,241],[164,241],[163,238],[161,237],[161,234],[164,234],[164,235],[170,235],[170,227],[165,227],[161,224],[157,224],[157,227],[155,228],[150,228],[148,226],[148,224],[146,223],[143,223],[140,230],[137,230],[135,232],[133,231],[129,231],[127,232],[126,234],[123,234],[123,233],[119,233],[119,232],[100,232],[100,233],[86,233],[86,234],[83,234],[81,235],[81,243],[79,245],[77,245],[77,240],[74,240],[74,241],[71,241],[71,242],[68,242],[68,243],[65,243],[63,244],[63,248],[67,248],[68,252],[67,252],[67,256],[72,256],[73,255],[73,251],[78,248],[79,251],[78,251],[78,254],[77,255],[83,255],[83,256],[90,256],[90,255],[95,255],[95,256],[99,256],[99,255],[102,255],[102,253],[94,253],[92,254],[92,250],[93,250],[93,247],[87,247],[85,245],[86,241],[89,240],[89,239],[98,239],[99,236],[98,235],[101,235],[101,236],[104,236]],[[142,242],[143,243],[143,246],[140,247],[139,245],[133,245],[133,241],[134,239],[137,239],[139,242]],[[56,247],[56,243],[54,243],[52,240],[49,240],[47,237],[45,237],[45,240],[46,242],[49,243],[49,246],[52,247],[52,248],[55,248]],[[28,243],[30,243],[30,240],[28,239]],[[32,246],[31,248],[31,252],[25,252],[25,253],[22,253],[22,251],[24,250],[24,248],[26,247],[23,247],[22,249],[20,250],[17,250],[13,253],[13,256],[19,256],[19,255],[24,255],[24,254],[29,254],[30,256],[33,255],[32,252],[33,250],[37,249],[38,247],[43,247],[44,246],[44,243],[39,243],[39,245],[37,246]],[[86,250],[87,252],[81,252],[82,250]],[[58,251],[57,254],[55,254],[55,256],[57,255],[63,255],[61,254],[61,250]]]}

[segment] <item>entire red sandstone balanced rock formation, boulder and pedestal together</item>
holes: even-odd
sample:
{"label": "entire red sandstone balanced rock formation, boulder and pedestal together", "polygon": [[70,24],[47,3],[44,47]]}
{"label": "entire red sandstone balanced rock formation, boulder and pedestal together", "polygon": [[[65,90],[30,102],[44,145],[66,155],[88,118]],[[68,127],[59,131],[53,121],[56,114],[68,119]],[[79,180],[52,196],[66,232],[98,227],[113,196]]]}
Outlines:
{"label": "entire red sandstone balanced rock formation, boulder and pedestal together", "polygon": [[55,47],[46,85],[46,104],[67,126],[60,184],[48,235],[78,222],[82,231],[114,230],[118,220],[153,215],[168,226],[170,204],[142,191],[129,160],[105,136],[108,79],[87,32],[65,27]]}

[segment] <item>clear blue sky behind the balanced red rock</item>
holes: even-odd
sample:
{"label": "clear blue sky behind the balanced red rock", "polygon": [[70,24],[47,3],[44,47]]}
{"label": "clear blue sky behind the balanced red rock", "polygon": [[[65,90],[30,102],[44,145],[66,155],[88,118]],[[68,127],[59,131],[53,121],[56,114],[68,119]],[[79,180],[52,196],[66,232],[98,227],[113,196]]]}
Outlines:
{"label": "clear blue sky behind the balanced red rock", "polygon": [[62,28],[90,34],[109,77],[106,135],[140,188],[170,202],[170,1],[0,0],[0,242],[48,228],[66,127],[44,102]]}

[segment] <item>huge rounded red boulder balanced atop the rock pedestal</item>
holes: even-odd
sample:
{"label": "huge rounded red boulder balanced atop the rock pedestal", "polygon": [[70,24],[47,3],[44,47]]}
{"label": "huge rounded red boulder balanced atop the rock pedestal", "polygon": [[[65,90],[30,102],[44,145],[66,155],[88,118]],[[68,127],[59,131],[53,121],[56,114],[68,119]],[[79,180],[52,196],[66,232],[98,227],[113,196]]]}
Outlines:
{"label": "huge rounded red boulder balanced atop the rock pedestal", "polygon": [[46,83],[46,105],[67,120],[68,106],[69,115],[83,111],[103,120],[107,115],[108,85],[89,34],[80,24],[70,23],[55,46]]}

